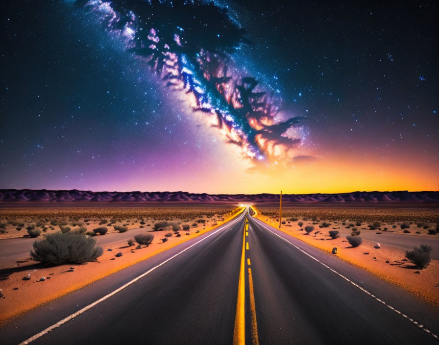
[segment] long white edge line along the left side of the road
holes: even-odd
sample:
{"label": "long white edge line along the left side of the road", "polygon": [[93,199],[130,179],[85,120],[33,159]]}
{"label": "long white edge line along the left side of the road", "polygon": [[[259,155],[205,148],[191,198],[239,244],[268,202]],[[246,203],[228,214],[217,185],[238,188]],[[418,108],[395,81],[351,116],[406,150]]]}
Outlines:
{"label": "long white edge line along the left side of the road", "polygon": [[[244,214],[244,212],[243,212]],[[133,280],[129,281],[128,283],[126,283],[125,285],[122,285],[119,289],[116,289],[115,291],[109,293],[108,295],[103,296],[102,298],[99,298],[97,301],[87,305],[86,307],[78,310],[76,313],[73,313],[72,315],[68,316],[67,318],[64,318],[61,321],[56,322],[55,324],[49,326],[48,328],[46,328],[45,330],[35,334],[34,336],[30,337],[29,339],[25,340],[24,342],[20,343],[19,345],[25,345],[25,344],[29,344],[30,342],[33,342],[34,340],[37,340],[38,338],[41,338],[42,336],[46,335],[47,333],[49,333],[50,331],[54,330],[55,328],[63,325],[64,323],[74,319],[75,317],[77,317],[78,315],[86,312],[87,310],[93,308],[95,305],[99,304],[100,302],[103,302],[105,299],[110,298],[111,296],[116,295],[118,292],[121,292],[123,289],[125,289],[126,287],[130,286],[131,284],[134,284],[136,281],[138,281],[139,279],[143,278],[144,276],[146,276],[147,274],[151,273],[152,271],[158,269],[160,266],[166,264],[168,261],[171,261],[173,258],[177,257],[178,255],[184,253],[186,250],[189,250],[190,248],[192,248],[193,246],[196,246],[197,244],[203,242],[205,239],[215,235],[218,231],[222,230],[224,227],[230,226],[238,221],[241,220],[242,217],[238,217],[237,219],[235,219],[234,221],[230,222],[230,223],[226,223],[223,224],[219,227],[219,229],[215,230],[215,232],[209,234],[208,236],[202,238],[201,240],[199,240],[198,242],[195,242],[193,245],[188,246],[187,248],[183,249],[182,251],[180,251],[179,253],[171,256],[170,258],[166,259],[165,261],[163,261],[161,264],[158,264],[157,266],[153,267],[152,269],[150,269],[149,271],[146,271],[145,273],[142,273],[141,275],[139,275],[138,277],[134,278]]]}

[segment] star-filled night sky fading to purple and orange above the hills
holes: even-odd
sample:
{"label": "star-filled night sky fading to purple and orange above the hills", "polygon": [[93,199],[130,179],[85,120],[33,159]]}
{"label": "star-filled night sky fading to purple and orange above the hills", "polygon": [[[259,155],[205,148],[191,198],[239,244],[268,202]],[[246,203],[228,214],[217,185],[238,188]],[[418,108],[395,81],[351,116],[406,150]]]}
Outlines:
{"label": "star-filled night sky fading to purple and orange above the hills", "polygon": [[[99,5],[1,2],[0,188],[439,190],[433,1],[216,1],[221,28],[240,28],[218,53],[239,93],[210,88],[212,52],[233,37],[201,12],[184,28],[160,6],[136,13],[152,13],[154,49],[181,31],[168,48],[186,49],[187,73],[170,86],[133,46],[134,17],[118,31]],[[264,93],[262,120],[249,91]]]}

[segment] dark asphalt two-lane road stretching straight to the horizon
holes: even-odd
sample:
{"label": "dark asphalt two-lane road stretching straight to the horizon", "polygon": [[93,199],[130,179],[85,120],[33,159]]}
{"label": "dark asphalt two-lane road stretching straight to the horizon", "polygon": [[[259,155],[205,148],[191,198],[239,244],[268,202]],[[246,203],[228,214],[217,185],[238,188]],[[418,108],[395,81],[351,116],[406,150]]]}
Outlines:
{"label": "dark asphalt two-lane road stretching straight to the horizon", "polygon": [[367,292],[435,334],[439,308],[260,221],[250,218],[245,236],[244,216],[12,320],[1,344],[23,342],[170,258],[31,344],[233,344],[240,274],[247,344],[437,343]]}

